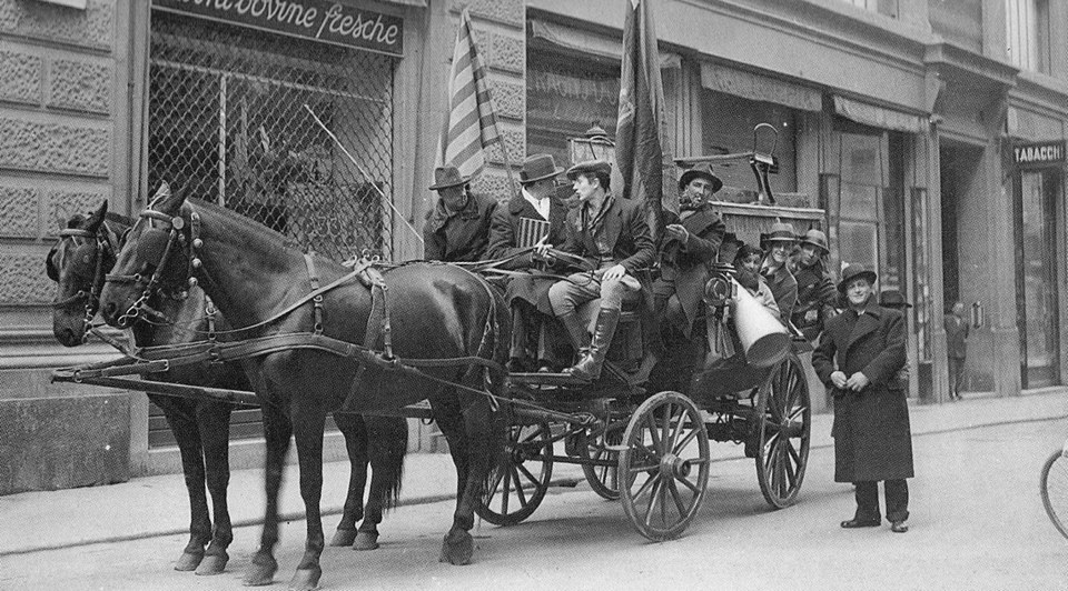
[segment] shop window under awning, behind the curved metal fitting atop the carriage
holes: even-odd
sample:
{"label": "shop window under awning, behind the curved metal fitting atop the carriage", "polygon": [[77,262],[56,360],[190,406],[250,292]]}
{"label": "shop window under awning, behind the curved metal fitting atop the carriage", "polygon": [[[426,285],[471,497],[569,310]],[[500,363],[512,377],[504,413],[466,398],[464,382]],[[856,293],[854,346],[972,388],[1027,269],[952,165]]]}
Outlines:
{"label": "shop window under awning, behind the curved metal fitting atop the carriage", "polygon": [[[770,123],[779,132],[775,148],[779,173],[770,176],[772,191],[795,192],[798,190],[797,128],[800,118],[793,109],[714,90],[702,89],[701,92],[704,154],[752,150],[753,128],[758,123]],[[761,149],[771,148],[763,136],[761,136]],[[723,180],[724,196],[735,190],[752,193],[750,197],[756,198],[756,181],[748,162],[719,166],[716,174]]]}

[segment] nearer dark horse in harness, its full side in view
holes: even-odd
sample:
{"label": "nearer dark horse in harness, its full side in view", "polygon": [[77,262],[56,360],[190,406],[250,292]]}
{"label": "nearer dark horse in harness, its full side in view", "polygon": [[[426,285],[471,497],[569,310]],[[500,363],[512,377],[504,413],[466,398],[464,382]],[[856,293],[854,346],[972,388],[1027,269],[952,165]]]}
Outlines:
{"label": "nearer dark horse in harness, its full side in view", "polygon": [[[309,264],[308,260],[314,263]],[[314,273],[323,286],[323,334],[338,342],[382,348],[392,334],[393,352],[405,360],[493,359],[507,354],[507,307],[485,281],[457,267],[416,262],[383,273],[388,288],[392,332],[374,319],[373,292],[345,267],[314,257],[306,260],[286,246],[285,237],[224,208],[168,197],[141,213],[118,256],[101,294],[101,310],[112,325],[141,315],[139,305],[157,289],[181,289],[196,279],[236,327],[243,339],[309,333],[317,324],[308,299]],[[195,276],[195,277],[190,277]],[[380,297],[379,297],[380,299]],[[379,304],[380,305],[380,304]],[[369,338],[368,338],[369,337]],[[270,341],[277,342],[277,341]],[[350,348],[356,351],[356,347]],[[360,358],[366,361],[366,358]],[[246,584],[268,584],[277,571],[278,489],[283,459],[295,435],[300,463],[300,494],[307,512],[305,553],[291,589],[314,589],[322,577],[324,548],[319,498],[323,487],[323,427],[327,412],[346,409],[367,414],[390,413],[429,399],[456,464],[458,495],[453,525],[445,537],[442,560],[471,560],[468,530],[485,488],[492,459],[503,443],[504,421],[491,392],[500,392],[501,371],[485,363],[424,369],[425,377],[365,365],[357,381],[354,358],[319,349],[287,345],[248,359],[267,431],[267,514],[260,548],[246,572]],[[457,388],[462,383],[464,388]],[[374,387],[369,387],[373,384]],[[488,391],[486,391],[488,389]],[[291,428],[291,430],[290,430]]]}

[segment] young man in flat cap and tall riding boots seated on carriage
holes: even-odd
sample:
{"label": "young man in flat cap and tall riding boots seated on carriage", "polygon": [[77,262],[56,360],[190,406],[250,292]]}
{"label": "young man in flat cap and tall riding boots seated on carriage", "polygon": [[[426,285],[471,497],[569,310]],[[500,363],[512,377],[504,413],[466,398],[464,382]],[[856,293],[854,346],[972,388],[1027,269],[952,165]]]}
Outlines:
{"label": "young man in flat cap and tall riding boots seated on carriage", "polygon": [[[656,257],[644,203],[614,197],[610,190],[611,171],[612,164],[603,160],[567,170],[578,206],[567,212],[567,239],[561,250],[587,259],[596,270],[574,273],[548,290],[553,312],[582,352],[578,362],[564,372],[585,380],[601,375],[623,294],[641,289],[635,272],[651,266]],[[540,247],[541,253],[545,251]],[[596,298],[601,298],[601,309],[591,340],[577,308]]]}

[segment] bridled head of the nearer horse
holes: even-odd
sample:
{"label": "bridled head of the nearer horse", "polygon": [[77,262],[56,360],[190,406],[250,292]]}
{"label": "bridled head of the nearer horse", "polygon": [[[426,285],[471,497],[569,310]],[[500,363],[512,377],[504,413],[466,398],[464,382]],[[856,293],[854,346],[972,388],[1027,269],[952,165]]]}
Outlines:
{"label": "bridled head of the nearer horse", "polygon": [[127,232],[115,268],[106,276],[100,313],[108,324],[129,328],[154,313],[156,296],[184,298],[195,284],[190,254],[199,246],[197,214],[184,196],[171,194],[164,183],[140,219]]}

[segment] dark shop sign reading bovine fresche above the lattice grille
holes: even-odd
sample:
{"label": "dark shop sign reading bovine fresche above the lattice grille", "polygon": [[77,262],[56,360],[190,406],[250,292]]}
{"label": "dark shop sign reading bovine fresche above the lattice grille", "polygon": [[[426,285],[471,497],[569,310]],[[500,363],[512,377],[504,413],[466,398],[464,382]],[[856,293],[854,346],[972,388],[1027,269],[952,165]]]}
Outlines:
{"label": "dark shop sign reading bovine fresche above the lattice grille", "polygon": [[152,8],[390,56],[404,54],[404,19],[330,0],[152,0]]}

